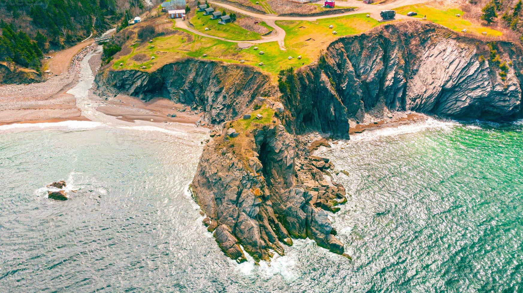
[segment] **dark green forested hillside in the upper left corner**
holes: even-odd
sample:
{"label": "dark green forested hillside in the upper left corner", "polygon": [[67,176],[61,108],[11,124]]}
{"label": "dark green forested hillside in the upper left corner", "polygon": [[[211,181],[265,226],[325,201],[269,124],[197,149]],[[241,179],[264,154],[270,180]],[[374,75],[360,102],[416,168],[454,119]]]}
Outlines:
{"label": "dark green forested hillside in the upper left corner", "polygon": [[51,50],[97,36],[138,13],[144,0],[25,0],[0,6],[0,62],[41,71],[41,58]]}

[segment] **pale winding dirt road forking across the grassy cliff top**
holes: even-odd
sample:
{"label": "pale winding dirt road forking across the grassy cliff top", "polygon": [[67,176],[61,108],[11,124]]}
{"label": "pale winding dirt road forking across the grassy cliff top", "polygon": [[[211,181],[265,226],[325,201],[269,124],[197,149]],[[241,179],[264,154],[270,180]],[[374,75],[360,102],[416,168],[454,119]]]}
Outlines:
{"label": "pale winding dirt road forking across the grassy cliff top", "polygon": [[[282,28],[280,28],[279,26],[276,25],[276,20],[298,20],[298,21],[306,20],[306,21],[314,21],[314,20],[317,20],[317,19],[340,17],[340,16],[346,16],[346,15],[351,15],[351,14],[359,14],[359,13],[367,13],[372,18],[379,19],[379,18],[381,18],[379,15],[380,15],[380,11],[382,11],[382,10],[392,9],[392,8],[396,8],[396,7],[406,6],[406,5],[420,4],[420,3],[425,3],[425,2],[428,2],[428,1],[429,0],[396,0],[396,1],[393,1],[393,2],[386,3],[386,4],[367,5],[367,4],[363,4],[362,2],[359,2],[359,1],[356,1],[356,0],[347,0],[347,1],[344,1],[342,3],[339,3],[338,5],[341,4],[341,5],[347,5],[347,6],[350,6],[350,7],[356,7],[357,10],[352,10],[352,11],[349,11],[349,12],[346,12],[346,13],[331,14],[331,15],[321,15],[321,16],[279,16],[279,15],[274,15],[274,14],[259,14],[259,13],[254,13],[254,12],[251,12],[251,11],[247,11],[247,10],[244,10],[242,8],[238,8],[236,6],[232,6],[232,5],[229,5],[229,4],[223,4],[223,3],[218,3],[218,2],[210,2],[213,5],[221,6],[223,8],[235,11],[236,13],[240,13],[240,14],[251,16],[251,17],[255,17],[255,18],[259,18],[259,19],[265,21],[265,23],[268,26],[274,28],[274,31],[272,31],[269,36],[261,37],[260,40],[236,41],[236,40],[229,40],[229,39],[225,39],[225,38],[211,36],[210,34],[203,33],[201,31],[198,31],[198,30],[195,30],[193,28],[190,28],[187,25],[187,23],[185,21],[183,21],[182,19],[180,19],[180,18],[176,19],[176,27],[182,28],[182,29],[186,29],[186,30],[188,30],[188,31],[190,31],[192,33],[198,34],[199,36],[202,36],[202,37],[218,39],[218,40],[227,41],[227,42],[233,42],[233,43],[238,43],[238,44],[244,43],[244,44],[246,44],[248,46],[250,46],[251,44],[278,42],[278,45],[280,46],[280,50],[285,51],[285,50],[287,50],[285,48],[285,30],[283,30]],[[402,16],[402,15],[396,15],[396,16],[397,16],[397,18],[405,18],[405,16]]]}

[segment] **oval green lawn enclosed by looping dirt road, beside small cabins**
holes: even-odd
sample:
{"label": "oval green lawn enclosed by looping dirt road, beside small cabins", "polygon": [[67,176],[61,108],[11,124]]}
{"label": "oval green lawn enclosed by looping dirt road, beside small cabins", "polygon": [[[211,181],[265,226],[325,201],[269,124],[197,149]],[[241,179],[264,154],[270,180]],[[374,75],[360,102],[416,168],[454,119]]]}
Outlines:
{"label": "oval green lawn enclosed by looping dirt road, beside small cabins", "polygon": [[[218,10],[217,10],[218,11]],[[221,10],[220,10],[221,11]],[[218,19],[211,19],[210,15],[203,15],[202,12],[197,13],[190,19],[195,29],[211,36],[220,37],[228,40],[246,41],[261,39],[259,33],[246,30],[233,22],[225,25],[219,25]],[[209,30],[205,30],[209,28]]]}

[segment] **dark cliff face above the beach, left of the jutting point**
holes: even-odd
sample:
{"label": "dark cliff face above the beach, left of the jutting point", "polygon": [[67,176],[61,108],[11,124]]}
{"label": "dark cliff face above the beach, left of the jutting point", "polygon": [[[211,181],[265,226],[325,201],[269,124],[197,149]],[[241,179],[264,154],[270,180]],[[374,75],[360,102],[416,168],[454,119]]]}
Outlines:
{"label": "dark cliff face above the beach, left of the jutting point", "polygon": [[106,71],[95,82],[105,92],[124,92],[144,100],[164,97],[202,107],[203,120],[211,124],[232,120],[255,97],[275,90],[269,77],[252,67],[193,59],[167,64],[153,73]]}

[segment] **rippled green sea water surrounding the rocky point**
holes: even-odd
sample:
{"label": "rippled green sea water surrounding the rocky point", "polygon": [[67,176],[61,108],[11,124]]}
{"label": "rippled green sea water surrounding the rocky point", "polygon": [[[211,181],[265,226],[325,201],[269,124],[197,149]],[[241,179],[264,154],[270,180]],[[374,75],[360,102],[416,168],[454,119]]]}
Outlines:
{"label": "rippled green sea water surrounding the rocky point", "polygon": [[[335,175],[351,196],[331,217],[353,261],[297,240],[259,266],[227,259],[201,225],[192,140],[0,133],[0,291],[523,290],[521,124],[410,125],[323,150],[348,173]],[[58,179],[78,190],[71,200],[44,196]]]}

